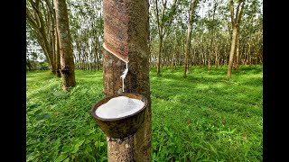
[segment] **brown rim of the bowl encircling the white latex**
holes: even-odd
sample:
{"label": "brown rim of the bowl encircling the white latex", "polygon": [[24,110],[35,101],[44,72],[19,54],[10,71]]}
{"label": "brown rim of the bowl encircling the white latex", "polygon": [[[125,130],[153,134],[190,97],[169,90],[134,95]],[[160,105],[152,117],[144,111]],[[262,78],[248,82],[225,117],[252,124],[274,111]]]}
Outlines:
{"label": "brown rim of the bowl encircling the white latex", "polygon": [[[104,103],[101,103],[101,102],[103,102],[103,100],[107,100],[107,102],[108,102],[110,99],[115,98],[115,97],[118,97],[118,96],[126,96],[126,97],[129,97],[129,98],[132,98],[132,97],[129,96],[130,94],[133,94],[133,95],[135,95],[135,96],[141,97],[140,100],[141,100],[142,102],[144,102],[144,106],[143,106],[141,109],[139,109],[137,112],[134,112],[134,113],[132,113],[132,114],[129,114],[129,115],[126,115],[126,116],[123,116],[123,117],[119,117],[119,118],[101,118],[101,117],[99,117],[99,116],[96,114],[96,110],[98,109],[98,107],[99,107],[100,105],[104,104]],[[137,98],[134,98],[134,99],[137,99]],[[107,102],[105,102],[105,103],[107,103]],[[92,106],[92,108],[90,109],[90,113],[91,113],[91,115],[92,115],[95,119],[97,119],[97,120],[99,120],[99,121],[120,121],[120,120],[124,120],[124,119],[126,119],[126,118],[130,118],[130,117],[132,117],[132,116],[135,116],[137,113],[144,111],[144,108],[146,108],[146,106],[147,106],[147,99],[146,99],[146,97],[145,97],[144,95],[142,95],[142,94],[135,94],[135,93],[113,94],[113,95],[107,95],[107,97],[101,99],[100,101],[98,101],[98,103],[95,103],[95,104]]]}

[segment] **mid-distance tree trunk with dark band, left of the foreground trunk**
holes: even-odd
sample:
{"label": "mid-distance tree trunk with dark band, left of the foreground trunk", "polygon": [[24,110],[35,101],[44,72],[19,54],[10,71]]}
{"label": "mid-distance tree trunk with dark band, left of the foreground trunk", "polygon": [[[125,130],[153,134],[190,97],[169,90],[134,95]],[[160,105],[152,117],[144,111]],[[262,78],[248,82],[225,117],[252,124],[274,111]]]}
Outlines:
{"label": "mid-distance tree trunk with dark band, left of the foreground trunk", "polygon": [[54,0],[53,3],[60,43],[62,89],[67,91],[76,85],[67,5],[65,0]]}

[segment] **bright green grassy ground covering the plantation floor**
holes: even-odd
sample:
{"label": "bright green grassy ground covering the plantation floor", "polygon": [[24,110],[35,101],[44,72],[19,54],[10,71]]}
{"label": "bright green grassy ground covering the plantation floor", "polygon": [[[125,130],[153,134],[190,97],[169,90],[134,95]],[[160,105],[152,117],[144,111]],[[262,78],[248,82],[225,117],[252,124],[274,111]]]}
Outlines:
{"label": "bright green grassy ground covering the plantation floor", "polygon": [[[263,67],[150,71],[152,161],[263,161]],[[61,91],[49,71],[26,78],[27,161],[107,161],[105,134],[89,110],[104,97],[102,72],[76,71]]]}

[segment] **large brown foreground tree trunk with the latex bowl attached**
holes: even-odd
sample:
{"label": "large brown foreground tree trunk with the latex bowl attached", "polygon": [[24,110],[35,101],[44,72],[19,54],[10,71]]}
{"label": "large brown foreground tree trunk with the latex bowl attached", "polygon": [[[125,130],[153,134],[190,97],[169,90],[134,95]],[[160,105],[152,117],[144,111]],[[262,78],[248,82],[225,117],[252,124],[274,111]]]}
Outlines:
{"label": "large brown foreground tree trunk with the latex bowl attached", "polygon": [[[117,12],[126,12],[128,73],[125,78],[125,92],[143,94],[147,100],[144,112],[144,125],[134,135],[125,139],[111,139],[107,137],[107,158],[109,162],[119,161],[151,161],[152,148],[152,109],[149,82],[149,49],[148,29],[149,14],[148,1],[104,0],[104,40],[109,40],[107,25],[119,25],[112,19]],[[115,10],[115,12],[112,12]],[[107,22],[109,18],[109,22]],[[113,33],[117,34],[117,32]],[[120,36],[125,37],[125,36]],[[103,56],[103,85],[106,95],[121,94],[122,80],[120,76],[126,69],[126,63],[109,51],[104,50]]]}

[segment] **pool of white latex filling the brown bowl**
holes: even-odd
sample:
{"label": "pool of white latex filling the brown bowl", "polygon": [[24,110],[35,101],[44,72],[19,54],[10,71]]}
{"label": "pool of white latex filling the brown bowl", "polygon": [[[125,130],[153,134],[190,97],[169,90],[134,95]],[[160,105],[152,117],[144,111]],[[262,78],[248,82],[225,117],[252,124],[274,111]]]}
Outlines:
{"label": "pool of white latex filling the brown bowl", "polygon": [[110,99],[98,107],[96,114],[105,119],[124,117],[139,111],[144,107],[144,102],[126,96],[118,96]]}

